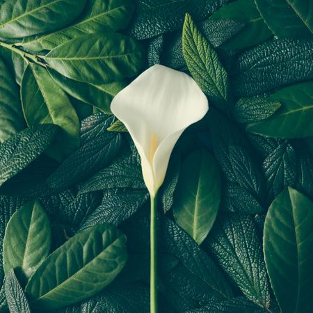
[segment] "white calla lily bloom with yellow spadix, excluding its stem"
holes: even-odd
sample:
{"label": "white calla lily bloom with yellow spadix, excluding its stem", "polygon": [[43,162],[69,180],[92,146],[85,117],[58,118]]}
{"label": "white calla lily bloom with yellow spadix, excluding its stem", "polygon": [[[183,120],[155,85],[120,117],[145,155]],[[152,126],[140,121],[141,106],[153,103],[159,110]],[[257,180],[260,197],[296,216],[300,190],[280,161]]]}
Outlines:
{"label": "white calla lily bloom with yellow spadix, excluding its stem", "polygon": [[162,65],[150,67],[114,97],[111,111],[136,145],[152,196],[163,183],[179,136],[208,109],[207,97],[191,77]]}

